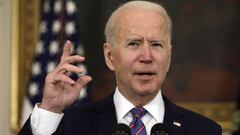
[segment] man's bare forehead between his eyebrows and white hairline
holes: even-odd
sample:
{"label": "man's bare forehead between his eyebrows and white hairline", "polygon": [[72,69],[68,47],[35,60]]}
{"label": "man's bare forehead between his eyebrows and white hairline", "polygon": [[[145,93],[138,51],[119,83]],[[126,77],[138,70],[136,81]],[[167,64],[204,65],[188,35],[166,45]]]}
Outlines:
{"label": "man's bare forehead between his eyebrows and white hairline", "polygon": [[163,36],[166,21],[159,11],[143,8],[125,8],[117,16],[118,34],[136,36]]}

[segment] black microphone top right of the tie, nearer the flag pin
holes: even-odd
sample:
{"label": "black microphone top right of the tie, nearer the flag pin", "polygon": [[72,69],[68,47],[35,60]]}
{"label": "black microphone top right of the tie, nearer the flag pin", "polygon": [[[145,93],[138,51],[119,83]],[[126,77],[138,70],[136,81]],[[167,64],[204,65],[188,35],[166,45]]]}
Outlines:
{"label": "black microphone top right of the tie, nearer the flag pin", "polygon": [[151,129],[151,135],[168,135],[166,126],[163,123],[155,124]]}

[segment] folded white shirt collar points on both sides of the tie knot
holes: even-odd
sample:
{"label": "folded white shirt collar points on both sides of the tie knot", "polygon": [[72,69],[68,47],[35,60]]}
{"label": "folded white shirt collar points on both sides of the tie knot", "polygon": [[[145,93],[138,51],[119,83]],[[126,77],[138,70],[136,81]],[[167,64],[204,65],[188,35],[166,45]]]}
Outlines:
{"label": "folded white shirt collar points on both sides of the tie knot", "polygon": [[[128,101],[116,88],[115,93],[113,95],[113,102],[116,109],[117,121],[119,122],[122,118],[124,118],[127,113],[134,108],[135,106]],[[165,106],[162,98],[161,90],[159,90],[156,97],[149,102],[147,105],[143,106],[148,113],[159,123],[163,122]]]}

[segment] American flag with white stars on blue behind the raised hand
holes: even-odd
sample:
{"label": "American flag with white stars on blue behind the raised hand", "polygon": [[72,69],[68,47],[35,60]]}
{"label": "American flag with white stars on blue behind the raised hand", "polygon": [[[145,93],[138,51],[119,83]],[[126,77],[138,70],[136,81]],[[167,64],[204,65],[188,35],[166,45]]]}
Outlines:
{"label": "American flag with white stars on blue behind the raised hand", "polygon": [[[75,0],[42,0],[39,41],[31,67],[29,89],[24,99],[21,124],[29,117],[34,105],[41,102],[45,77],[58,64],[66,40],[73,44],[73,54],[84,56],[83,44],[79,42],[77,6]],[[86,70],[86,65],[80,63]],[[86,72],[84,73],[86,74]],[[80,100],[86,100],[84,88]]]}

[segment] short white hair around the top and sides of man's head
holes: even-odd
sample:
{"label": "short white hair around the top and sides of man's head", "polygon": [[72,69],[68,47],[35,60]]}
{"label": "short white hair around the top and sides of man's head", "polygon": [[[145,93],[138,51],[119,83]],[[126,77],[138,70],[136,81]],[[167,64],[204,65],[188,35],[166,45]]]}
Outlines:
{"label": "short white hair around the top and sides of man's head", "polygon": [[109,17],[107,24],[105,26],[105,38],[106,41],[110,44],[115,43],[115,38],[117,34],[116,25],[117,25],[117,13],[125,8],[142,8],[142,9],[149,9],[156,12],[159,12],[162,17],[165,19],[165,25],[166,25],[166,31],[169,35],[169,43],[171,42],[171,33],[172,33],[172,21],[171,18],[168,16],[167,11],[165,8],[157,3],[153,3],[150,1],[130,1],[123,5],[121,5],[119,8],[117,8]]}

